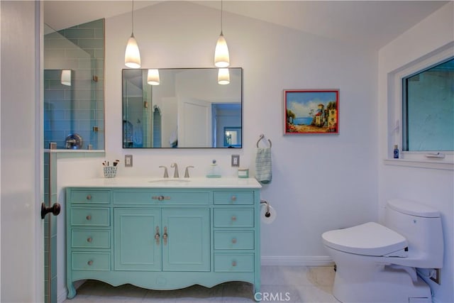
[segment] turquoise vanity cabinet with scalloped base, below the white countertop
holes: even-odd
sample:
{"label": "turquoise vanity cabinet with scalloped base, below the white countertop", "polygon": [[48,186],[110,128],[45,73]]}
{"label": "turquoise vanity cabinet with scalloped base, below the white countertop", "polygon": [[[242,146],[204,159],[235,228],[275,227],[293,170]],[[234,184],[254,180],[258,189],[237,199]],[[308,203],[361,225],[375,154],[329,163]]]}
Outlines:
{"label": "turquoise vanity cabinet with scalloped base, below the white countertop", "polygon": [[86,185],[67,187],[66,200],[70,299],[87,279],[152,290],[244,281],[260,292],[260,186]]}

